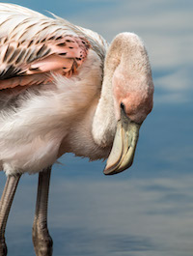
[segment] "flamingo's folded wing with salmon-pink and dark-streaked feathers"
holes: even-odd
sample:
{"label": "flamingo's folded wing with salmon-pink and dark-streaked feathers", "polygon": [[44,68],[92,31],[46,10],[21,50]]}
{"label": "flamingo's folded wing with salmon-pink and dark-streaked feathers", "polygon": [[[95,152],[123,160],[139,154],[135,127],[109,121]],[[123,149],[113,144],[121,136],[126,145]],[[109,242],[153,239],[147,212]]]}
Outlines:
{"label": "flamingo's folded wing with salmon-pink and dark-streaked feathers", "polygon": [[0,90],[47,83],[53,73],[69,77],[90,48],[88,40],[58,26],[53,18],[22,10],[26,12],[0,4]]}

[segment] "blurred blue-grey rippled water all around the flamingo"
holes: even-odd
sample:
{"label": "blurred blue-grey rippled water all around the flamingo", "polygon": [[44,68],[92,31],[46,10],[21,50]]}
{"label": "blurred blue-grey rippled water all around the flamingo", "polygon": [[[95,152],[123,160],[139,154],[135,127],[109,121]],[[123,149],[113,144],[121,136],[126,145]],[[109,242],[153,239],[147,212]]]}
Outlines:
{"label": "blurred blue-grey rippled water all around the flamingo", "polygon": [[[105,162],[63,156],[53,166],[48,223],[53,255],[193,255],[193,1],[4,1],[90,28],[108,42],[120,32],[147,46],[155,86],[134,164],[112,177]],[[0,173],[0,192],[6,178]],[[31,227],[38,175],[20,180],[9,217],[13,256],[35,255]]]}

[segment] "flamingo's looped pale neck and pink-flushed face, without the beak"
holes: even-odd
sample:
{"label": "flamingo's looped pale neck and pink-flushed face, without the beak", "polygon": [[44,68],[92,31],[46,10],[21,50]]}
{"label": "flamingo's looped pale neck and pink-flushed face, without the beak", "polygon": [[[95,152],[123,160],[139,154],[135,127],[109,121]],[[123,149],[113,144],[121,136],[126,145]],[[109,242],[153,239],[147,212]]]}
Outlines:
{"label": "flamingo's looped pale neck and pink-flushed face, without the beak", "polygon": [[142,123],[152,109],[152,94],[152,71],[143,42],[133,33],[119,34],[105,58],[101,97],[93,122],[96,143],[109,146],[112,142],[121,102],[127,116]]}

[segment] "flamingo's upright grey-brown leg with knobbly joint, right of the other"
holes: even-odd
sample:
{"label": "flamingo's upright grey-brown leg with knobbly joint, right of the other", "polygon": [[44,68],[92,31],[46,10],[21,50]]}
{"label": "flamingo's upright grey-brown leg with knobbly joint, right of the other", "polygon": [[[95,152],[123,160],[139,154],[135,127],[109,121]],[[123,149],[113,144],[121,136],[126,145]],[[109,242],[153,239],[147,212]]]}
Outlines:
{"label": "flamingo's upright grey-brown leg with knobbly joint, right of the other", "polygon": [[47,229],[47,203],[51,167],[39,174],[36,213],[33,224],[33,242],[37,256],[52,255],[52,239]]}

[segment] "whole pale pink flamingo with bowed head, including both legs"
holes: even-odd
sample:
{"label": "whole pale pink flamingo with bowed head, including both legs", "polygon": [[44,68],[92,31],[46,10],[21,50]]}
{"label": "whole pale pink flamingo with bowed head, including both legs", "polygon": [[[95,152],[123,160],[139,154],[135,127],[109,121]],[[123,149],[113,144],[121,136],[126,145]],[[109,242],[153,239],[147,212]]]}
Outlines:
{"label": "whole pale pink flamingo with bowed head, including both legs", "polygon": [[107,159],[105,175],[131,166],[139,129],[152,110],[149,57],[124,32],[107,43],[60,17],[0,4],[0,165],[7,182],[0,202],[0,255],[23,173],[39,173],[33,242],[52,255],[47,228],[51,166],[73,153]]}

